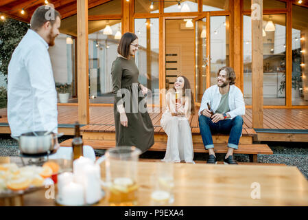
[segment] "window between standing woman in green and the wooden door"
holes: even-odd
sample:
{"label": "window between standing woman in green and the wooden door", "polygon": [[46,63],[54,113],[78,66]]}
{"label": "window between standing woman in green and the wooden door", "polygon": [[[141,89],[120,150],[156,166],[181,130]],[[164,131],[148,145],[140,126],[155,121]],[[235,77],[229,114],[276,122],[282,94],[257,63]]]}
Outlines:
{"label": "window between standing woman in green and the wooden door", "polygon": [[135,56],[139,82],[152,91],[147,104],[159,104],[159,19],[135,19],[134,32],[141,46]]}

